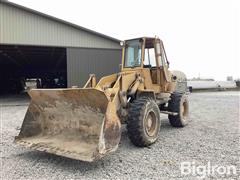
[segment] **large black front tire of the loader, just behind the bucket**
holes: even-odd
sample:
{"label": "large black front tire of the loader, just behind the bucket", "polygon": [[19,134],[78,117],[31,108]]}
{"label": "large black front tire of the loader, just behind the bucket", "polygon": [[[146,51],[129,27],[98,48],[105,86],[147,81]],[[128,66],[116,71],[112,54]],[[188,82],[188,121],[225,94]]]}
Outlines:
{"label": "large black front tire of the loader, just behind the bucket", "polygon": [[[149,116],[151,116],[151,125],[147,127]],[[154,126],[153,129],[151,129],[152,126]],[[141,97],[132,102],[128,111],[127,132],[134,145],[146,147],[155,143],[158,139],[160,126],[160,111],[153,99]]]}

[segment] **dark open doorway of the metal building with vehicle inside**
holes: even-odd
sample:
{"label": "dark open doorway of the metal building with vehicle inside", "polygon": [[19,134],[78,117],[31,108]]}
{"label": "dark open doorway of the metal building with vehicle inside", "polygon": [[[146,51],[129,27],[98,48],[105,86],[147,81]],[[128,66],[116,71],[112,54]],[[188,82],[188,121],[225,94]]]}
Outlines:
{"label": "dark open doorway of the metal building with vehicle inside", "polygon": [[0,93],[66,88],[66,48],[0,45]]}

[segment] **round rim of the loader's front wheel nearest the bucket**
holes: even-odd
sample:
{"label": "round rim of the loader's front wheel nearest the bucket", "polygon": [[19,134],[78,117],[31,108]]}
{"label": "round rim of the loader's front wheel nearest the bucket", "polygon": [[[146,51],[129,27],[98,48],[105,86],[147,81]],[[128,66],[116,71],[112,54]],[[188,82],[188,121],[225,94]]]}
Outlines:
{"label": "round rim of the loader's front wheel nearest the bucket", "polygon": [[145,119],[145,131],[148,136],[154,136],[157,130],[157,118],[153,111],[150,111]]}

